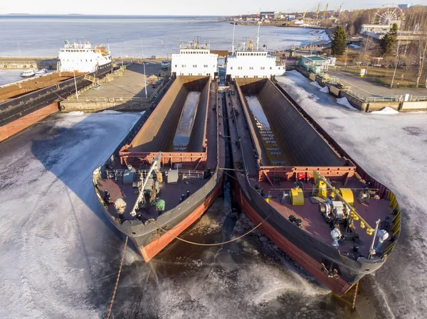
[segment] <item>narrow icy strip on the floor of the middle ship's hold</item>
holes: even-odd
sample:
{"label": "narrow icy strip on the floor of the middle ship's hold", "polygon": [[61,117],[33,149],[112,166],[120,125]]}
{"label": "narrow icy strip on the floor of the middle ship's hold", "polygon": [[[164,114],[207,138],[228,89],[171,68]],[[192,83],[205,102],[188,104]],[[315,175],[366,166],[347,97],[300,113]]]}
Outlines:
{"label": "narrow icy strip on the floor of the middle ship's hold", "polygon": [[196,117],[197,105],[199,105],[200,92],[189,92],[182,109],[181,118],[176,128],[174,141],[174,151],[185,151],[189,145],[194,119]]}

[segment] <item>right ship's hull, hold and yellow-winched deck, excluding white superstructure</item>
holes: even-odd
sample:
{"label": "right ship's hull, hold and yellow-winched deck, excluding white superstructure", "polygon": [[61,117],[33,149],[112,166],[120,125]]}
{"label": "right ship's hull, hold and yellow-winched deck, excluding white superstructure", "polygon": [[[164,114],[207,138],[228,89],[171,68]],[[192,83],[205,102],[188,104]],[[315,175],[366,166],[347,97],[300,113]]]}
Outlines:
{"label": "right ship's hull, hold and yellow-winched deck, excluding white superstructure", "polygon": [[243,212],[338,296],[379,269],[399,238],[396,198],[269,78],[226,97]]}

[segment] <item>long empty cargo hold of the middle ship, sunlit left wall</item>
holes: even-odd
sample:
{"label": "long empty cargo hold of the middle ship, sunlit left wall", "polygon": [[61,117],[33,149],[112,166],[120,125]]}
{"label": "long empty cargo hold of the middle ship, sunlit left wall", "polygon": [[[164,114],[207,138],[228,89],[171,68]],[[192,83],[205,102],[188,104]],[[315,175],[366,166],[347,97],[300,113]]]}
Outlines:
{"label": "long empty cargo hold of the middle ship, sunlit left wall", "polygon": [[186,144],[184,151],[205,151],[209,83],[210,77],[177,77],[127,151],[181,151],[174,149],[177,136]]}

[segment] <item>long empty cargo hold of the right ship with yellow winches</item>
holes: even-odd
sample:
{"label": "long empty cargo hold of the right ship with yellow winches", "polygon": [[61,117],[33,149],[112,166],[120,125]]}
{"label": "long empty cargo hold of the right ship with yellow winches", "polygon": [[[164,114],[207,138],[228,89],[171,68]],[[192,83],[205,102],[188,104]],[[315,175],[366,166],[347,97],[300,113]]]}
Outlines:
{"label": "long empty cargo hold of the right ship with yellow winches", "polygon": [[[243,101],[243,110],[249,129],[251,134],[255,135],[253,136],[254,144],[262,166],[276,165],[273,161],[277,158],[280,158],[279,161],[285,161],[286,166],[342,166],[344,164],[344,158],[327,144],[271,80],[238,78],[236,84],[238,96]],[[256,97],[256,99],[248,97]],[[270,125],[271,134],[267,134],[271,136],[267,134],[264,136],[273,138],[280,155],[276,154],[273,157],[272,150],[268,150],[273,147],[268,146],[270,143],[265,143],[268,140],[263,139],[263,131],[258,129],[255,117],[262,128],[263,121],[267,121]]]}

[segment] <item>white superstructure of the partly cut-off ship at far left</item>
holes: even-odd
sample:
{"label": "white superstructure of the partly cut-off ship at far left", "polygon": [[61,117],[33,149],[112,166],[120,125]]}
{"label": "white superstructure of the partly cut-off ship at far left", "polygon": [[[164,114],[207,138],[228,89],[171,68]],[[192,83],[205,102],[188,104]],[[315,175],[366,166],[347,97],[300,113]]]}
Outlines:
{"label": "white superstructure of the partly cut-off ship at far left", "polygon": [[107,72],[111,70],[110,51],[100,46],[94,47],[88,42],[69,43],[65,40],[64,48],[58,53],[60,72]]}

